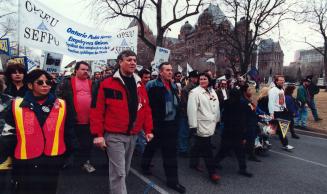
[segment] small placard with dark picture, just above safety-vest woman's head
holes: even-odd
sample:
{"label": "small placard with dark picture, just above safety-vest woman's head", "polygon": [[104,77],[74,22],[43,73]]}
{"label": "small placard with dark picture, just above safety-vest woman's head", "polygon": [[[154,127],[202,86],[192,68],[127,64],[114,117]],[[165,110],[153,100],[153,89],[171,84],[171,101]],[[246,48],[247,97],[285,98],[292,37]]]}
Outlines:
{"label": "small placard with dark picture, just above safety-vest woman's head", "polygon": [[44,52],[43,69],[48,73],[60,73],[60,65],[63,58],[62,54]]}

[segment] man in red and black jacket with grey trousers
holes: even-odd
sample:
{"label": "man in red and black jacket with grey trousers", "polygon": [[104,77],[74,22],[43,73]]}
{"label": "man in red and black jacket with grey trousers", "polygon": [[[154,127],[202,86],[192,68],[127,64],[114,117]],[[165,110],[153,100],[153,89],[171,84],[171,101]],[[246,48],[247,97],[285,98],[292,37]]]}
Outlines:
{"label": "man in red and black jacket with grey trousers", "polygon": [[93,143],[107,149],[110,193],[126,194],[125,179],[138,133],[144,129],[149,142],[153,127],[145,86],[134,74],[136,54],[122,51],[117,62],[119,70],[99,85],[91,110],[91,132],[97,135]]}

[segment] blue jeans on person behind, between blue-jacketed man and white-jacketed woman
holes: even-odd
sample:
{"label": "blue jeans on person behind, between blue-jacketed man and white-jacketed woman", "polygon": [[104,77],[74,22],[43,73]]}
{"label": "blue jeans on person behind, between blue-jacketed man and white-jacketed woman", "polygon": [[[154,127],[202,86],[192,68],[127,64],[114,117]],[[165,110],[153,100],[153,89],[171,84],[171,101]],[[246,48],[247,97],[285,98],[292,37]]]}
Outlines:
{"label": "blue jeans on person behind, between blue-jacketed man and white-jacketed woman", "polygon": [[187,117],[181,116],[178,124],[178,152],[188,152],[189,149],[189,125]]}

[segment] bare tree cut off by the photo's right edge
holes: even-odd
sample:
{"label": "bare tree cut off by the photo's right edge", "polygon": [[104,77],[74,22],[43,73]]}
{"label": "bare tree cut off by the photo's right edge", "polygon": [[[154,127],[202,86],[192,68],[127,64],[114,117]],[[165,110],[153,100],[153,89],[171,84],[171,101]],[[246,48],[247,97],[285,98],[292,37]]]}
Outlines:
{"label": "bare tree cut off by the photo's right edge", "polygon": [[304,13],[302,15],[302,21],[309,23],[311,25],[310,28],[317,34],[320,34],[323,40],[323,48],[319,48],[307,40],[305,40],[305,42],[323,56],[325,72],[324,81],[325,84],[327,84],[327,1],[313,0],[305,7],[305,10],[302,10],[302,13]]}

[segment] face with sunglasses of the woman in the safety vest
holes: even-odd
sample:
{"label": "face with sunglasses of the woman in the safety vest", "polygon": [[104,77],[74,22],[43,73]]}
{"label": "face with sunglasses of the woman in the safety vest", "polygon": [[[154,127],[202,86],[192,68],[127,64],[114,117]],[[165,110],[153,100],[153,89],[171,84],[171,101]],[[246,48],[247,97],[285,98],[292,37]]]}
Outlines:
{"label": "face with sunglasses of the woman in the safety vest", "polygon": [[45,96],[50,92],[51,80],[48,80],[45,75],[41,75],[33,83],[29,83],[28,88],[32,90],[34,96]]}

